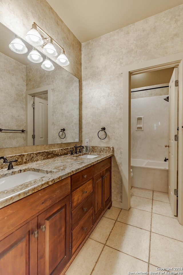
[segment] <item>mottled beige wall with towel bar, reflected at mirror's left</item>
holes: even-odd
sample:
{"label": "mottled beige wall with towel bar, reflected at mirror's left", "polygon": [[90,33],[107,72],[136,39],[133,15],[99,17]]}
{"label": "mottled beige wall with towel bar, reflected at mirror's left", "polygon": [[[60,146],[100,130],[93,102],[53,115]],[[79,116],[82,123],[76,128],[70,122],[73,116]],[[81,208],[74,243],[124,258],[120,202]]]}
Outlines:
{"label": "mottled beige wall with towel bar, reflected at mirror's left", "polygon": [[[0,60],[0,128],[25,130],[25,65],[1,52]],[[12,145],[25,146],[25,133],[0,132],[0,148]]]}

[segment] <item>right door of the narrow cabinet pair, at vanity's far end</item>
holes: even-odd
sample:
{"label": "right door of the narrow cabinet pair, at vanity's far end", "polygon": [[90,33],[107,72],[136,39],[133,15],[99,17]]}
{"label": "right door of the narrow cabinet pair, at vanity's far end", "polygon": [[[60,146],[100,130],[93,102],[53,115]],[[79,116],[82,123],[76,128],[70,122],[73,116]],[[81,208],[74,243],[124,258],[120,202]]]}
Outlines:
{"label": "right door of the narrow cabinet pair, at vanity's far end", "polygon": [[104,209],[111,202],[111,167],[104,172]]}

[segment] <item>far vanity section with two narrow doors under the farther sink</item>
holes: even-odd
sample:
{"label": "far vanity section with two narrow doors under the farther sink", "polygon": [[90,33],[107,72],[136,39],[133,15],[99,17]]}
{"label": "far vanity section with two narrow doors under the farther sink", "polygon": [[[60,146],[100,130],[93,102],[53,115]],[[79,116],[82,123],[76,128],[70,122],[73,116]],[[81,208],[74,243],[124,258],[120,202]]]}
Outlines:
{"label": "far vanity section with two narrow doors under the farther sink", "polygon": [[111,158],[94,164],[94,223],[112,205]]}

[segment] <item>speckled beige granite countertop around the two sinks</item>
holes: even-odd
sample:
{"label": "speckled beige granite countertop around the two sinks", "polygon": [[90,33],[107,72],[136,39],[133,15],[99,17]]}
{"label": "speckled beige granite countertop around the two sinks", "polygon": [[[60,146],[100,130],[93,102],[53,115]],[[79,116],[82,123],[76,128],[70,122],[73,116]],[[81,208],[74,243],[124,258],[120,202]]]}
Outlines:
{"label": "speckled beige granite countertop around the two sinks", "polygon": [[[86,154],[86,153],[84,153]],[[13,170],[1,169],[0,170],[0,179],[5,176],[10,176],[13,174],[21,173],[24,171],[37,171],[45,173],[45,176],[31,180],[29,182],[17,185],[10,189],[6,189],[0,192],[0,208],[5,207],[19,199],[22,199],[32,193],[41,190],[63,178],[71,176],[76,172],[79,172],[101,160],[109,158],[114,154],[111,152],[104,153],[87,153],[98,155],[95,158],[79,158],[79,156],[84,154],[77,155],[65,155],[58,156],[55,158],[41,160],[36,162],[31,162],[28,164],[23,164],[15,166]]]}

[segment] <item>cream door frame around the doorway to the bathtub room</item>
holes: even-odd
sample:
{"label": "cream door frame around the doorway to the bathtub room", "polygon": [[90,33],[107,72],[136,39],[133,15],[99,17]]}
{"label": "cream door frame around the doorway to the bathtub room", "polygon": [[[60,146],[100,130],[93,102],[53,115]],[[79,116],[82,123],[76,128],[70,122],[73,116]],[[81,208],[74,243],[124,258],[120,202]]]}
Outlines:
{"label": "cream door frame around the doorway to the bathtub room", "polygon": [[130,162],[131,162],[131,91],[130,79],[132,74],[140,74],[170,67],[178,67],[179,73],[179,146],[178,146],[178,221],[183,225],[183,52],[164,56],[153,60],[132,64],[122,68],[123,96],[122,96],[122,208],[130,209]]}

